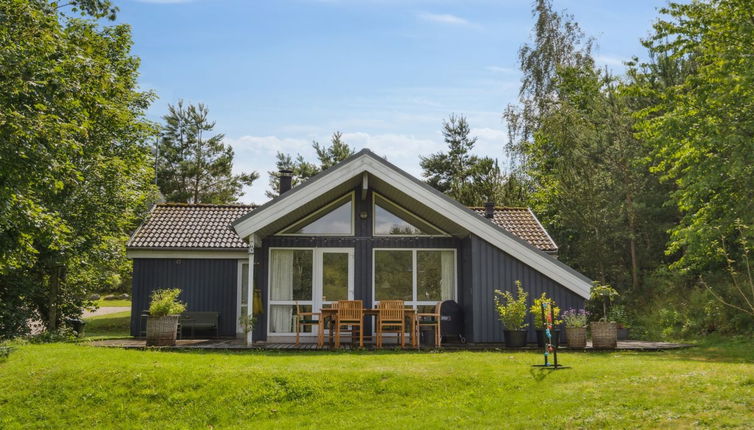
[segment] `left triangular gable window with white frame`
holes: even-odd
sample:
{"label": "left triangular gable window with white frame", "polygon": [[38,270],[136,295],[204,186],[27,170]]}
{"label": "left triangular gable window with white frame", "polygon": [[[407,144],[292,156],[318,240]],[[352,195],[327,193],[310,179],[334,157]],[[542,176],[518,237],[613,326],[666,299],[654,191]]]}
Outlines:
{"label": "left triangular gable window with white frame", "polygon": [[353,195],[340,198],[286,228],[280,234],[301,236],[352,236]]}

